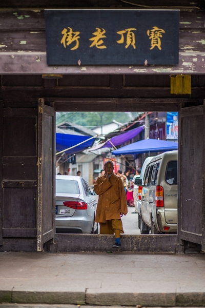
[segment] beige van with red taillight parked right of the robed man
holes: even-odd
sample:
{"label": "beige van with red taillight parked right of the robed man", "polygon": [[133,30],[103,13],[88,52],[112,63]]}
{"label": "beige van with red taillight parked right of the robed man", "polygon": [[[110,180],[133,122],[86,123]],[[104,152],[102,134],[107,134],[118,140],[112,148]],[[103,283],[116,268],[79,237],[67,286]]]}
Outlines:
{"label": "beige van with red taillight parked right of the robed man", "polygon": [[157,155],[148,164],[142,186],[140,233],[177,232],[177,151]]}

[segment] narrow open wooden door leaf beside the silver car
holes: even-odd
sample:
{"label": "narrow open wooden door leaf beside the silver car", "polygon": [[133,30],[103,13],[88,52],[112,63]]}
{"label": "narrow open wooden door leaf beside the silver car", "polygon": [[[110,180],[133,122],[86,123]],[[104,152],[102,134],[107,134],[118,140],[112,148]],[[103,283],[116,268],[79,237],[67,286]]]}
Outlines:
{"label": "narrow open wooden door leaf beside the silver car", "polygon": [[43,250],[43,244],[55,235],[55,111],[39,99],[38,114],[38,217],[37,251]]}

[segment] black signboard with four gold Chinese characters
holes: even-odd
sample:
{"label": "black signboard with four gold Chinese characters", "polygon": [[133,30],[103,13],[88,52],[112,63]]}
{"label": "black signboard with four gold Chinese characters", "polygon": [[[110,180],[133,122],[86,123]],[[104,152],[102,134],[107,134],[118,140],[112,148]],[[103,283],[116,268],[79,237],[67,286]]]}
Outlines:
{"label": "black signboard with four gold Chinese characters", "polygon": [[179,10],[45,10],[48,65],[176,65]]}

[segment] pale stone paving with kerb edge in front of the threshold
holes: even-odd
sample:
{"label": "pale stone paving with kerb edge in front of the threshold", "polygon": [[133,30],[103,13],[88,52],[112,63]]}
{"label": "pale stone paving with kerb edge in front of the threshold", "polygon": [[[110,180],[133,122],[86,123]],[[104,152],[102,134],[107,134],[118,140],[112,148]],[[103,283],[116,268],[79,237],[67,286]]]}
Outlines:
{"label": "pale stone paving with kerb edge in front of the threshold", "polygon": [[203,306],[205,255],[0,253],[0,302]]}

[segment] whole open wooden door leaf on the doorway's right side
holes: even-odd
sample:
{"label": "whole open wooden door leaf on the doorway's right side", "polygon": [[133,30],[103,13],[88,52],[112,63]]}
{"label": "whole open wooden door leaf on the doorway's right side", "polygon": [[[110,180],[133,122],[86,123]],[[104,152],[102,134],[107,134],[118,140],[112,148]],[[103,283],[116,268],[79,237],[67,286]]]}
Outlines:
{"label": "whole open wooden door leaf on the doorway's right side", "polygon": [[180,240],[204,245],[204,106],[182,108],[178,159]]}

